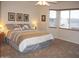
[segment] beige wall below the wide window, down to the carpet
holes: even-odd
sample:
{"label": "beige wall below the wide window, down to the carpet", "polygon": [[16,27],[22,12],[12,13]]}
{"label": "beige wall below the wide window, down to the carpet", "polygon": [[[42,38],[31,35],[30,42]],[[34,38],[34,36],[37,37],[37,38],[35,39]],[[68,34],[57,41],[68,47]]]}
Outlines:
{"label": "beige wall below the wide window, down to the carpet", "polygon": [[60,29],[58,38],[79,44],[79,31]]}

